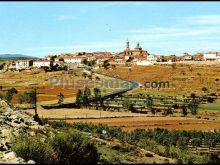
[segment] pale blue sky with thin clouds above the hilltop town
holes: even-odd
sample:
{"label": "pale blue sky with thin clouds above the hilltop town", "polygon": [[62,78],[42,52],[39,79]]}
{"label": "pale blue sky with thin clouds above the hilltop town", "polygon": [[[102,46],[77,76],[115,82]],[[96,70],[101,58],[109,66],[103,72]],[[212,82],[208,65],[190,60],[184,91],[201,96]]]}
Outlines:
{"label": "pale blue sky with thin clouds above the hilltop town", "polygon": [[0,2],[0,54],[220,51],[220,2]]}

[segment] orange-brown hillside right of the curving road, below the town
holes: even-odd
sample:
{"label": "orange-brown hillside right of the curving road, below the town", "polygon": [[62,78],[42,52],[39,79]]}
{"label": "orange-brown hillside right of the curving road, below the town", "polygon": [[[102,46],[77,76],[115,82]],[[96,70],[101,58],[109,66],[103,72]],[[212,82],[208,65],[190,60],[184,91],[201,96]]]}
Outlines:
{"label": "orange-brown hillside right of the curving road, below the town", "polygon": [[[220,94],[220,63],[213,65],[192,65],[189,63],[151,66],[116,66],[116,69],[99,70],[102,73],[145,82],[169,82],[166,88],[139,88],[129,94],[149,93],[159,95],[189,95],[196,93]],[[202,91],[202,88],[207,91]]]}

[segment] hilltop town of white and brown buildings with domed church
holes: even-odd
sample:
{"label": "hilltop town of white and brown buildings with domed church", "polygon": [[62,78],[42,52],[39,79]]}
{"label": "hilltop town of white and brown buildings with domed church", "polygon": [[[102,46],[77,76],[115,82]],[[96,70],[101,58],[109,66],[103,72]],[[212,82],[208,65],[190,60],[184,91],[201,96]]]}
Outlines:
{"label": "hilltop town of white and brown buildings with domed church", "polygon": [[64,53],[59,55],[47,55],[41,59],[23,59],[15,60],[9,63],[7,70],[22,70],[31,68],[50,68],[58,67],[63,64],[77,64],[80,66],[82,62],[92,62],[96,67],[102,65],[104,61],[108,61],[112,65],[129,66],[147,66],[153,64],[172,64],[172,63],[201,63],[210,64],[212,62],[220,62],[220,52],[207,52],[183,55],[156,55],[144,50],[138,42],[134,49],[130,48],[129,41],[125,43],[125,49],[122,52],[78,52]]}

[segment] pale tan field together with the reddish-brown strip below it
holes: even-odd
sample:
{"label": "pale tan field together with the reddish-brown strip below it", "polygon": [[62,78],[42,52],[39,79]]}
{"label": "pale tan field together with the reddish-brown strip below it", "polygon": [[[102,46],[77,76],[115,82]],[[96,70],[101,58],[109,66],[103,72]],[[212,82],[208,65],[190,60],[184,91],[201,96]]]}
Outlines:
{"label": "pale tan field together with the reddish-brown strip below it", "polygon": [[[34,110],[26,110],[34,114]],[[67,122],[103,123],[119,126],[125,131],[137,128],[166,128],[177,130],[214,130],[220,129],[220,122],[215,120],[197,119],[193,117],[171,117],[131,112],[108,112],[89,109],[53,109],[44,110],[39,107],[38,114],[43,118],[65,120]],[[100,118],[101,114],[101,118]]]}

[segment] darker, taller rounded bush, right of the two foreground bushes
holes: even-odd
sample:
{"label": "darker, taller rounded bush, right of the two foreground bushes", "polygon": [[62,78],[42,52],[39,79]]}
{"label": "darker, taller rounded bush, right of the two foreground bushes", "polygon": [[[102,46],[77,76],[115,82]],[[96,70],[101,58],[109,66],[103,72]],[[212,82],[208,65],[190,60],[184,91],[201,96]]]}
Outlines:
{"label": "darker, taller rounded bush, right of the two foreground bushes", "polygon": [[56,135],[51,143],[58,163],[95,164],[98,161],[99,155],[94,143],[76,130]]}

